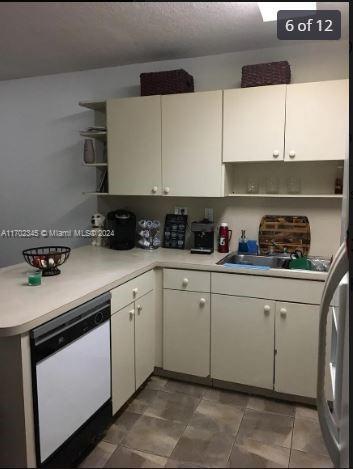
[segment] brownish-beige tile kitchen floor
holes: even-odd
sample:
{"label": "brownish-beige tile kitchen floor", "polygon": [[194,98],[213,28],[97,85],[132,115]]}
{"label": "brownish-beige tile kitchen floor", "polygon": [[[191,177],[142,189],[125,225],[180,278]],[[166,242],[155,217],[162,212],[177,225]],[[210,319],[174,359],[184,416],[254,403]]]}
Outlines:
{"label": "brownish-beige tile kitchen floor", "polygon": [[333,467],[314,409],[152,376],[79,467]]}

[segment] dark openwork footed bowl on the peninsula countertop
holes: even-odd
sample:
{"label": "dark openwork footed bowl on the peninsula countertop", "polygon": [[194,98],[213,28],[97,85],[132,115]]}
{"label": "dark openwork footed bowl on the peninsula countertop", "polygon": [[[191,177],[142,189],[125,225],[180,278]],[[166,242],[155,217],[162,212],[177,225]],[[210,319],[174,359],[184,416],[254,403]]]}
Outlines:
{"label": "dark openwork footed bowl on the peninsula countertop", "polygon": [[66,246],[44,246],[22,251],[26,262],[42,271],[43,277],[60,274],[58,265],[62,265],[69,257],[71,248]]}

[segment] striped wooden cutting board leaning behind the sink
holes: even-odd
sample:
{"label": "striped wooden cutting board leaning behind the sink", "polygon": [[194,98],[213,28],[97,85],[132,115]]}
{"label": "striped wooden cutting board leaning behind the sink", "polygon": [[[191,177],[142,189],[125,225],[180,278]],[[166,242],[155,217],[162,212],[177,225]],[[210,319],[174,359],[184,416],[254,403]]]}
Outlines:
{"label": "striped wooden cutting board leaning behind the sink", "polygon": [[[276,243],[273,246],[272,243]],[[307,217],[298,215],[265,215],[259,227],[260,254],[292,253],[300,249],[305,256],[310,250],[310,224]]]}

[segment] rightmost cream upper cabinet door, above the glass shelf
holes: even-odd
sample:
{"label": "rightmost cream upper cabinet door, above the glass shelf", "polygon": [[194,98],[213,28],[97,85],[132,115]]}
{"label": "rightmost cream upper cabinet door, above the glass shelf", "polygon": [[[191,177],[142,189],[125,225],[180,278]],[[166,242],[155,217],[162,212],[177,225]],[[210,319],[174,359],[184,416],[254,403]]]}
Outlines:
{"label": "rightmost cream upper cabinet door, above the glass shelf", "polygon": [[344,159],[348,80],[287,86],[286,161]]}

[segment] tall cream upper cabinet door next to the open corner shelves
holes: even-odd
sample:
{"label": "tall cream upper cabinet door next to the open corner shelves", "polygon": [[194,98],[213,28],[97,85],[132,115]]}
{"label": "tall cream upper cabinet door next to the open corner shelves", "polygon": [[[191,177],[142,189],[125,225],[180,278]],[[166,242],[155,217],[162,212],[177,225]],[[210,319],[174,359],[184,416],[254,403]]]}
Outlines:
{"label": "tall cream upper cabinet door next to the open corner shelves", "polygon": [[107,130],[109,193],[160,194],[160,96],[108,100]]}

